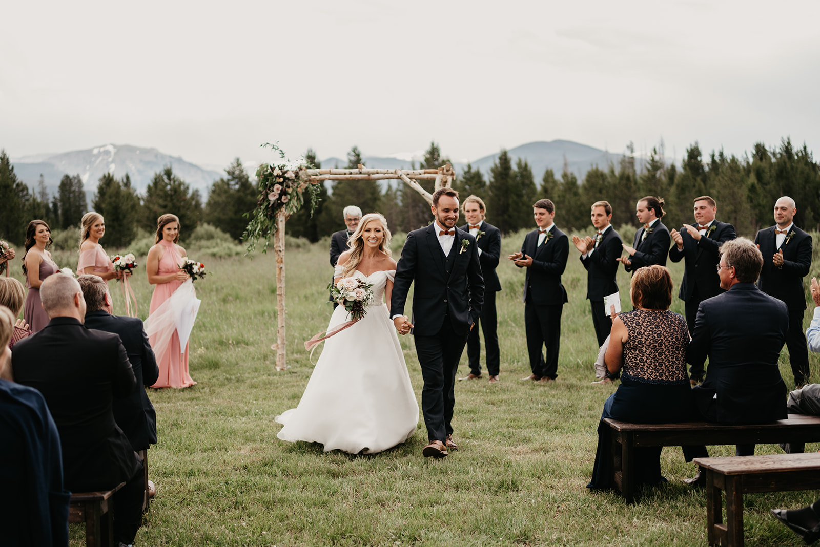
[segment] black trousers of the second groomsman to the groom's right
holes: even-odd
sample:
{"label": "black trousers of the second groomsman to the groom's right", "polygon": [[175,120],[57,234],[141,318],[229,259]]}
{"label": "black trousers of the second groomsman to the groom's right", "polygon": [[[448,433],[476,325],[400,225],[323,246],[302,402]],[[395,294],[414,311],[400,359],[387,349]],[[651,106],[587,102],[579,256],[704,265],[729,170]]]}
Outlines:
{"label": "black trousers of the second groomsman to the groom's right", "polygon": [[[558,376],[558,350],[561,346],[561,312],[563,304],[535,305],[526,297],[524,324],[526,325],[526,349],[530,355],[530,367],[535,376]],[[542,348],[547,346],[547,358]]]}

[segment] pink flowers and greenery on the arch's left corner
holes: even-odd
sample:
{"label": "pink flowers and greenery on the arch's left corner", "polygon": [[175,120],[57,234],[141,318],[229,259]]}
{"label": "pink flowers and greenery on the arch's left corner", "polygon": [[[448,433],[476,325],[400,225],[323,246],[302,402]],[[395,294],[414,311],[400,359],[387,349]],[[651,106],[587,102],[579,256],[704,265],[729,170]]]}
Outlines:
{"label": "pink flowers and greenery on the arch's left corner", "polygon": [[303,170],[312,168],[304,157],[298,160],[285,160],[285,152],[276,144],[266,143],[279,152],[280,161],[270,164],[263,163],[257,170],[259,197],[257,206],[250,213],[251,220],[242,236],[248,244],[248,251],[253,251],[257,239],[265,238],[264,252],[267,249],[268,237],[276,232],[276,218],[280,212],[285,212],[285,218],[293,215],[302,208],[307,193],[311,206],[311,215],[319,202],[317,184],[303,182],[300,174]]}

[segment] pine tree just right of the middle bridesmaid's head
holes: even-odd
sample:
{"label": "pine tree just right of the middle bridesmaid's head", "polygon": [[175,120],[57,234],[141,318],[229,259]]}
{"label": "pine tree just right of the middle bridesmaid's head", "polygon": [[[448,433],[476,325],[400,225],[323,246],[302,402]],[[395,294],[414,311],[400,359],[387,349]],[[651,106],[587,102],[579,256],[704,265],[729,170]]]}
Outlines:
{"label": "pine tree just right of the middle bridesmaid's head", "polygon": [[124,247],[134,241],[140,204],[127,173],[121,180],[116,179],[112,173],[103,174],[91,206],[105,219],[107,246]]}

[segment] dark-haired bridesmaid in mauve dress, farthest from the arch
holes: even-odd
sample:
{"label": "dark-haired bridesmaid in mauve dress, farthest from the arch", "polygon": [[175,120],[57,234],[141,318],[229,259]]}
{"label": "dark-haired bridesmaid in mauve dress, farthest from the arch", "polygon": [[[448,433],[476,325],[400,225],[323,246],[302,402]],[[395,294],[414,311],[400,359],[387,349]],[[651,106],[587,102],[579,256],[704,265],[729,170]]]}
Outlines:
{"label": "dark-haired bridesmaid in mauve dress, farthest from the arch", "polygon": [[53,242],[51,228],[42,220],[32,220],[25,230],[25,255],[23,255],[23,273],[25,273],[25,287],[29,294],[25,296],[23,319],[29,323],[31,332],[38,332],[48,325],[48,314],[40,305],[40,285],[43,279],[60,268],[51,259],[51,253],[46,247]]}

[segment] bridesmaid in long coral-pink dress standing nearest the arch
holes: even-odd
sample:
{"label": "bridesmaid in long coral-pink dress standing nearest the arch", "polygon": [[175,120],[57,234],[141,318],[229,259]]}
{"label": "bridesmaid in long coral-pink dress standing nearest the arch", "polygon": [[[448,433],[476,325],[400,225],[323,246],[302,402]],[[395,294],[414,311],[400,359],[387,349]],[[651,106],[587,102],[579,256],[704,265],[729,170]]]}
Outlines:
{"label": "bridesmaid in long coral-pink dress standing nearest the arch", "polygon": [[[180,219],[176,215],[162,215],[157,219],[157,234],[154,237],[156,244],[148,251],[145,265],[148,283],[157,286],[151,297],[149,319],[150,314],[188,279],[188,273],[180,270],[185,249],[176,244],[179,240]],[[157,347],[154,337],[150,337],[149,341],[157,355],[159,366],[159,378],[152,387],[189,387],[196,383],[188,373],[188,344],[185,344],[183,351],[176,331],[171,335],[171,342],[167,347]]]}

